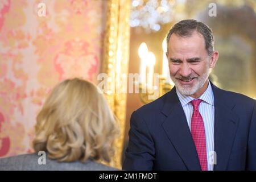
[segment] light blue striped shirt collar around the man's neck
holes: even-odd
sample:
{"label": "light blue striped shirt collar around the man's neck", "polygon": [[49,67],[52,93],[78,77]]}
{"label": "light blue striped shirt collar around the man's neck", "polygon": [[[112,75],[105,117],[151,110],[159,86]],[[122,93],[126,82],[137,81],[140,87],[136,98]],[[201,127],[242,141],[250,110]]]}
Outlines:
{"label": "light blue striped shirt collar around the man's neck", "polygon": [[[178,89],[176,89],[176,93],[177,93],[177,96],[179,97],[179,100],[181,102],[181,105],[182,106],[185,106],[186,104],[188,104],[189,102],[193,101],[193,100],[196,100],[195,98],[193,97],[190,97],[190,96],[185,96],[183,94],[181,94],[179,92]],[[212,90],[212,85],[210,85],[210,81],[208,80],[208,87],[207,89],[205,90],[205,92],[197,99],[201,99],[203,100],[204,102],[207,102],[207,104],[210,104],[210,105],[214,105],[214,96],[213,96],[213,90]]]}

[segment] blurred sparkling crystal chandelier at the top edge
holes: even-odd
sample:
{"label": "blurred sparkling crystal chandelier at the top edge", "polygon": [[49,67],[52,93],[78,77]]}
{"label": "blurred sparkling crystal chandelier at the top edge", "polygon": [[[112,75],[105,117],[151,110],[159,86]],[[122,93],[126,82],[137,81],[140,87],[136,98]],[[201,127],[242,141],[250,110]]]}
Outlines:
{"label": "blurred sparkling crystal chandelier at the top edge", "polygon": [[132,0],[130,26],[159,31],[161,24],[171,22],[174,4],[175,0]]}

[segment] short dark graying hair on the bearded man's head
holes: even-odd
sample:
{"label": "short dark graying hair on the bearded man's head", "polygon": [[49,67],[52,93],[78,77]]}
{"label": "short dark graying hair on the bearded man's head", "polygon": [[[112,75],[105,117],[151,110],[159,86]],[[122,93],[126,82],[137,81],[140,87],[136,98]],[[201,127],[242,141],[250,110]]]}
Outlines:
{"label": "short dark graying hair on the bearded man's head", "polygon": [[195,30],[204,36],[205,48],[207,49],[208,55],[212,55],[214,51],[214,39],[212,30],[206,24],[197,22],[195,19],[185,19],[174,24],[174,26],[167,34],[167,47],[172,34],[176,34],[182,37],[189,37],[192,36]]}

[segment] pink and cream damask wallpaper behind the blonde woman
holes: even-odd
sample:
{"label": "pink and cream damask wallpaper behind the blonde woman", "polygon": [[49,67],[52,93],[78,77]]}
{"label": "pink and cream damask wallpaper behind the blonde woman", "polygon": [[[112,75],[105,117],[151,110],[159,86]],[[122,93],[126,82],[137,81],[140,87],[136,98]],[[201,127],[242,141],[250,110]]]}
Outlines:
{"label": "pink and cream damask wallpaper behind the blonde woman", "polygon": [[36,114],[70,77],[97,82],[106,1],[0,1],[0,157],[32,152]]}

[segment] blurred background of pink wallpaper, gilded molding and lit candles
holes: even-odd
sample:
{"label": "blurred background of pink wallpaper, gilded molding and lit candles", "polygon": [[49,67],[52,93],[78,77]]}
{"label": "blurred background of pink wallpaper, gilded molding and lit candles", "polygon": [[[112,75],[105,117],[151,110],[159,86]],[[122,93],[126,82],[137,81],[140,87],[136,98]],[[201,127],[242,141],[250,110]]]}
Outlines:
{"label": "blurred background of pink wallpaper, gilded molding and lit candles", "polygon": [[128,73],[140,73],[134,86],[157,89],[158,97],[170,90],[164,38],[182,19],[213,30],[220,57],[210,80],[256,98],[255,12],[255,0],[1,0],[0,157],[33,152],[36,114],[57,82],[98,84],[106,73],[105,96],[121,126],[110,165],[120,168],[130,115],[150,102],[148,92],[127,93]]}

